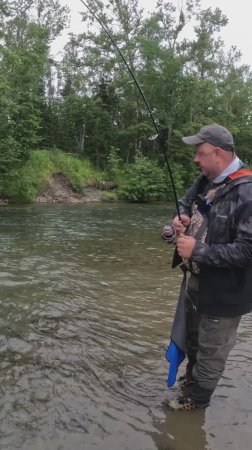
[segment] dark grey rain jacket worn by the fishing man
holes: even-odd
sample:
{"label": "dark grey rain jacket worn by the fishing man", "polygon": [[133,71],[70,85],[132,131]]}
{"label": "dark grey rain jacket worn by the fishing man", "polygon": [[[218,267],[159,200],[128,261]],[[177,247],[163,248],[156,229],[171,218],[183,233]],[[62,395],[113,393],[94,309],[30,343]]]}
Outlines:
{"label": "dark grey rain jacket worn by the fishing man", "polygon": [[[206,242],[197,242],[192,254],[200,267],[199,312],[223,317],[252,310],[252,172],[231,178],[208,212]],[[181,213],[190,216],[208,183],[204,175],[198,178],[180,201]]]}

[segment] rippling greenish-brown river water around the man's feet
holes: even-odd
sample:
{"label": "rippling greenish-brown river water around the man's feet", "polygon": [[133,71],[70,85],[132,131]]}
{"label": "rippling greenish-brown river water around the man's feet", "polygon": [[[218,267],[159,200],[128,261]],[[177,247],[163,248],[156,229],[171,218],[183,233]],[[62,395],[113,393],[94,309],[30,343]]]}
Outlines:
{"label": "rippling greenish-brown river water around the man's feet", "polygon": [[[166,205],[0,210],[0,449],[249,450],[252,318],[211,405],[172,412]],[[183,368],[181,368],[181,373]]]}

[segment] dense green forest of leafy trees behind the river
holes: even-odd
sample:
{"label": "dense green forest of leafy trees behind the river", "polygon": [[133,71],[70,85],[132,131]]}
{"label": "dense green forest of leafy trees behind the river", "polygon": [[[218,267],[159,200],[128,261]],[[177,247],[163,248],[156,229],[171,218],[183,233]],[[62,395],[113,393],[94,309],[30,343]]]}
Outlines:
{"label": "dense green forest of leafy trees behind the river", "polygon": [[[181,137],[203,125],[226,126],[239,157],[252,163],[251,68],[221,39],[228,19],[219,8],[158,0],[147,14],[138,0],[86,3],[148,100],[179,193],[197,174],[194,150]],[[69,9],[59,0],[0,0],[0,193],[24,189],[17,188],[24,172],[35,186],[27,181],[34,160],[44,182],[63,152],[68,165],[88,164],[97,179],[117,182],[122,198],[172,197],[146,105],[111,39],[82,6],[83,32],[70,33],[56,58],[52,44],[68,26]]]}

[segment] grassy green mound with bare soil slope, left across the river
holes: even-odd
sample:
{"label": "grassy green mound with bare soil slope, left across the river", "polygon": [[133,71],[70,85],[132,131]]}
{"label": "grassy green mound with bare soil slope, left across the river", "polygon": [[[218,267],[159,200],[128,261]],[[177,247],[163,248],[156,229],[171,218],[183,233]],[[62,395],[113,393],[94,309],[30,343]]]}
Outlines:
{"label": "grassy green mound with bare soil slope, left across the river", "polygon": [[13,169],[0,183],[0,204],[113,200],[116,194],[105,192],[110,188],[102,185],[103,178],[104,174],[89,161],[58,150],[33,151],[25,164]]}

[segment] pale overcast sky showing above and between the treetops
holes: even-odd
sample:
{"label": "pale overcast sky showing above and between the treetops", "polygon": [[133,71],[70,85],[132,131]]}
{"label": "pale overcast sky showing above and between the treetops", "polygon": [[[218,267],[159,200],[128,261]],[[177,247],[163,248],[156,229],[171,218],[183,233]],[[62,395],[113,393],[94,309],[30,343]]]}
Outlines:
{"label": "pale overcast sky showing above and between the treetops", "polygon": [[[183,0],[169,0],[175,6],[181,7]],[[85,7],[80,0],[60,0],[62,5],[67,5],[71,10],[70,30],[73,33],[83,31],[84,24],[81,23],[79,12],[84,12]],[[156,0],[139,0],[139,4],[146,11],[154,11]],[[185,0],[184,0],[185,3]],[[252,68],[252,45],[251,45],[251,0],[201,0],[202,9],[214,9],[216,7],[227,16],[229,23],[223,29],[221,37],[227,48],[236,46],[242,52],[241,62],[248,64]],[[53,53],[60,51],[66,42],[66,37],[62,36],[54,45]]]}

